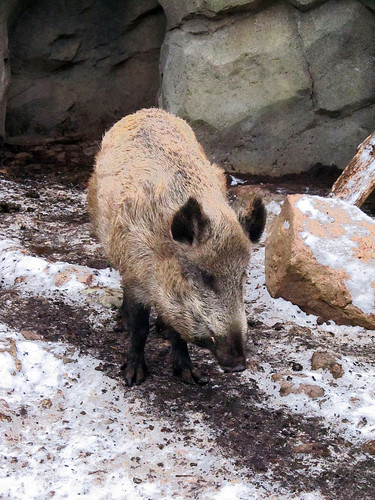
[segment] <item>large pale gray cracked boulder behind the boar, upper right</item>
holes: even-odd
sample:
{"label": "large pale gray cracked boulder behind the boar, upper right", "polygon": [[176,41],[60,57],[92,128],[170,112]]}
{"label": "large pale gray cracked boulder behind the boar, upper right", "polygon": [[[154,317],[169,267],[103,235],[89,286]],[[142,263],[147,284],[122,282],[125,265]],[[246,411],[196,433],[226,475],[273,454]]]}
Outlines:
{"label": "large pale gray cracked boulder behind the boar, upper right", "polygon": [[228,169],[344,168],[375,128],[371,11],[331,0],[210,12],[167,33],[160,105],[186,118]]}

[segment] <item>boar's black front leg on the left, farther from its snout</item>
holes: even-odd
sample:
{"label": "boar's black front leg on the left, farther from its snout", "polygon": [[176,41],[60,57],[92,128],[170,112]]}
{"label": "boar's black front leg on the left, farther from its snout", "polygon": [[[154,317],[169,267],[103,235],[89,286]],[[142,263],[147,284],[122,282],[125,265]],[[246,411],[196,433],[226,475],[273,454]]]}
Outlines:
{"label": "boar's black front leg on the left, farther from its snout", "polygon": [[[124,300],[125,304],[125,300]],[[146,377],[145,344],[149,331],[150,309],[141,304],[123,304],[126,320],[131,334],[131,347],[127,362],[122,366],[126,385],[141,384]]]}

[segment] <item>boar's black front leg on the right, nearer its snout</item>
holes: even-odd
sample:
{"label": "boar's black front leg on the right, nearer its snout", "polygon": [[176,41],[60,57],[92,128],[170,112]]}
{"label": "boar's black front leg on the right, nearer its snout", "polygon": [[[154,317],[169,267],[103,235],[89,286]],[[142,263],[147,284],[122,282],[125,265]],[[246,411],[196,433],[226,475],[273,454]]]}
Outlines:
{"label": "boar's black front leg on the right, nearer its snout", "polygon": [[172,344],[173,371],[188,384],[207,383],[207,378],[202,376],[191,362],[187,343],[182,340],[176,330],[169,330],[168,336]]}

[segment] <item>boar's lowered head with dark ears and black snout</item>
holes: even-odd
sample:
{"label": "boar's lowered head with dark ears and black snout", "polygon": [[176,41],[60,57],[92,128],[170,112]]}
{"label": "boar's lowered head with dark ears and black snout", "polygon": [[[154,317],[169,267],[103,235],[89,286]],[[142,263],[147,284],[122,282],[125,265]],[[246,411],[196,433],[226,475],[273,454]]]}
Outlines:
{"label": "boar's lowered head with dark ears and black snout", "polygon": [[158,280],[161,316],[186,341],[210,348],[228,371],[246,367],[246,269],[264,225],[260,198],[235,213],[224,200],[204,209],[193,197],[170,224],[172,258]]}

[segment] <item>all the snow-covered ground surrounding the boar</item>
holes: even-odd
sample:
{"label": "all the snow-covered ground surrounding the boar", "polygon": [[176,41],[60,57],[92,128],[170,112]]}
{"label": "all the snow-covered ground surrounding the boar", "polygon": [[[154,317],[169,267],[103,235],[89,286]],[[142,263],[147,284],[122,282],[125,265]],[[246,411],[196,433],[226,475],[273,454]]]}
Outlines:
{"label": "all the snow-covered ground surrounding the boar", "polygon": [[[70,263],[63,260],[63,251],[58,254],[58,238],[66,242],[69,235],[53,234],[52,223],[58,232],[58,222],[54,217],[48,219],[53,213],[56,220],[83,214],[83,193],[55,186],[41,190],[39,199],[25,200],[27,186],[1,182],[0,201],[2,198],[19,206],[7,214],[0,228],[4,305],[8,309],[18,307],[19,302],[12,302],[12,293],[21,300],[37,297],[53,301],[58,297],[77,311],[88,310],[93,328],[113,327],[113,308],[121,300],[118,274],[109,268],[77,263],[82,249],[87,253],[97,251],[88,236],[87,222],[74,225],[70,233],[78,255]],[[48,204],[51,198],[57,200],[55,206]],[[280,210],[279,202],[271,201],[268,209],[272,218]],[[43,217],[48,220],[43,222]],[[43,244],[54,246],[57,253],[52,257],[37,255],[30,243],[32,238],[24,240],[25,226],[33,235],[37,230],[43,233],[45,228]],[[256,408],[260,414],[264,410],[272,415],[281,410],[294,415],[296,422],[312,418],[308,425],[323,429],[321,438],[328,436],[329,440],[323,443],[324,453],[296,451],[293,464],[297,464],[299,474],[302,470],[309,476],[307,486],[293,484],[293,471],[285,473],[284,481],[281,455],[278,459],[276,454],[265,470],[254,470],[243,453],[237,457],[236,449],[229,451],[229,438],[226,449],[225,441],[219,439],[226,429],[208,420],[199,404],[196,410],[187,406],[182,423],[181,419],[158,414],[152,406],[157,390],[142,397],[150,390],[148,382],[129,390],[121,377],[109,378],[102,371],[102,360],[94,354],[83,354],[66,341],[48,341],[36,329],[14,326],[20,322],[13,324],[9,318],[22,316],[20,308],[13,316],[0,315],[0,498],[350,498],[342,492],[333,492],[330,497],[321,491],[324,481],[316,480],[340,460],[352,460],[353,464],[364,461],[367,476],[364,473],[362,482],[369,481],[374,460],[366,446],[375,440],[375,335],[359,327],[319,325],[316,317],[297,306],[272,299],[265,288],[263,244],[264,239],[249,265],[246,302],[249,319],[254,320],[250,322],[249,368],[220,379],[226,381],[226,387],[216,384],[214,374],[207,393],[202,396],[199,387],[189,388],[193,391],[189,397],[196,394],[198,399],[199,395],[209,407],[213,391],[221,391],[222,401],[227,391],[228,399],[235,400],[236,394],[241,394],[235,403],[246,406],[243,396],[253,390],[257,397],[249,403],[249,411]],[[312,369],[311,358],[320,350],[329,351],[337,360],[342,377],[334,378],[328,369]],[[218,378],[222,376],[216,365],[215,370]],[[287,394],[281,390],[285,383],[290,389]],[[298,391],[301,384],[317,386],[318,396]],[[182,399],[183,391],[182,385]],[[173,403],[165,400],[166,407]],[[228,408],[225,411],[231,412],[230,405]],[[240,433],[246,440],[250,431],[242,424],[238,422],[238,430],[230,432]],[[306,429],[310,427],[306,424]],[[296,435],[291,432],[285,439],[277,439],[284,439],[282,446],[293,450],[311,442],[313,431],[309,437],[306,429],[301,426]],[[287,471],[287,467],[282,470]],[[371,477],[374,479],[374,475]],[[364,492],[359,489],[356,498],[371,498],[371,486],[366,488]]]}

